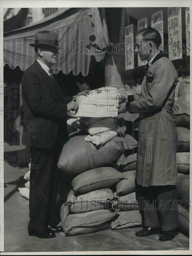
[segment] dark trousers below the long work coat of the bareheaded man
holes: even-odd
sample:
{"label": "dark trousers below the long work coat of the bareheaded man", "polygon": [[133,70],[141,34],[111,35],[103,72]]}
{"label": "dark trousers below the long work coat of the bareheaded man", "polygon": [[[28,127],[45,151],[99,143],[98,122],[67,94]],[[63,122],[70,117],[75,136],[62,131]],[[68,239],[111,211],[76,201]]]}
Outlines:
{"label": "dark trousers below the long work coat of the bareheaded man", "polygon": [[161,227],[162,231],[178,228],[176,185],[136,187],[143,226]]}

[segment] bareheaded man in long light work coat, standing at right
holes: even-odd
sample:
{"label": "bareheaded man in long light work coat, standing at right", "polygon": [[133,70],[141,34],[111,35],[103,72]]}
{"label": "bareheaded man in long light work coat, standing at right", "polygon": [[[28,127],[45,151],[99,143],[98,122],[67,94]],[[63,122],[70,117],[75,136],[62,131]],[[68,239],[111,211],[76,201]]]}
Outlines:
{"label": "bareheaded man in long light work coat, standing at right", "polygon": [[154,28],[136,34],[141,60],[147,60],[141,94],[126,96],[130,113],[140,113],[136,184],[144,228],[136,236],[161,232],[159,240],[178,234],[177,132],[172,110],[178,76],[173,63],[159,51],[161,35]]}

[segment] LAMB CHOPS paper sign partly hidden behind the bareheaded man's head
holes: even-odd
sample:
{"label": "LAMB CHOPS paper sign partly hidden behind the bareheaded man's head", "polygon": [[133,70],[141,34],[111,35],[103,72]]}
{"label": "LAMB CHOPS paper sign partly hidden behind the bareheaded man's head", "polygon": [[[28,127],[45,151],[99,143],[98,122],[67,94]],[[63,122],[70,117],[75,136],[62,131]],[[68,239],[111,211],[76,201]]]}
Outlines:
{"label": "LAMB CHOPS paper sign partly hidden behind the bareheaded man's head", "polygon": [[156,29],[161,35],[162,43],[159,50],[163,50],[163,10],[151,15],[151,27]]}

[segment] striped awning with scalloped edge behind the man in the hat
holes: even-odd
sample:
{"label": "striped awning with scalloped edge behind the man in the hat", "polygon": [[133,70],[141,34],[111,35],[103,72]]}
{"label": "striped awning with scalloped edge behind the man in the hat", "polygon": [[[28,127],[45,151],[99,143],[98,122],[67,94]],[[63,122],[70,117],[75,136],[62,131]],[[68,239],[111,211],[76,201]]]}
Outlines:
{"label": "striped awning with scalloped edge behind the man in the hat", "polygon": [[51,30],[58,33],[59,45],[64,48],[59,50],[58,63],[52,67],[53,72],[62,70],[68,74],[72,70],[74,75],[82,72],[83,76],[87,76],[91,54],[86,44],[90,44],[89,36],[96,34],[92,24],[94,17],[90,15],[90,8],[78,8],[69,16],[66,13],[73,8],[66,9],[63,13],[58,12],[59,18],[54,15],[54,18],[42,20],[33,26],[4,33],[4,65],[7,63],[12,69],[19,66],[22,71],[26,70],[36,59],[34,47],[29,46],[35,41],[35,32]]}

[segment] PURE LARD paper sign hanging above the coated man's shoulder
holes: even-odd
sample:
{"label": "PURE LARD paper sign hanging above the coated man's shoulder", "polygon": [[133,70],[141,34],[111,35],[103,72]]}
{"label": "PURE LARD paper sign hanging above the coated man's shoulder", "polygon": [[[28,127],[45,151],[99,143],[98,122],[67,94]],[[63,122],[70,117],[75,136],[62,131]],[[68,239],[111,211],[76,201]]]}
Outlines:
{"label": "PURE LARD paper sign hanging above the coated man's shoulder", "polygon": [[169,59],[182,59],[182,26],[180,7],[168,7],[168,44]]}

